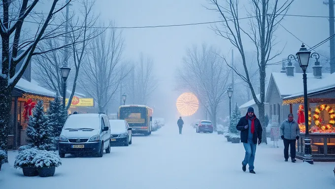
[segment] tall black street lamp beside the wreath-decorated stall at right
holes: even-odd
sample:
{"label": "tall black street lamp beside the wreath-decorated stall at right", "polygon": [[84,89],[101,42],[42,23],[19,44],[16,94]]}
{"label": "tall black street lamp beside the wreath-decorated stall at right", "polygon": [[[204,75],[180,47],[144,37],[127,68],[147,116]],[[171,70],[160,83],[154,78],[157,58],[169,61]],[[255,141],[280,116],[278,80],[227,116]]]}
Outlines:
{"label": "tall black street lamp beside the wreath-decorated stall at right", "polygon": [[[296,54],[298,58],[298,62],[300,67],[302,68],[303,74],[302,74],[302,79],[303,79],[303,105],[304,105],[304,112],[305,112],[305,153],[303,156],[303,161],[306,161],[310,164],[314,164],[313,158],[312,158],[312,148],[310,146],[310,138],[309,138],[309,128],[308,128],[308,97],[307,97],[307,75],[306,75],[306,69],[308,67],[308,62],[310,57],[315,57],[318,59],[319,54],[317,53],[312,53],[310,54],[310,51],[306,49],[306,47],[303,45],[299,50],[299,52]],[[296,60],[296,57],[294,55],[289,55],[287,57],[287,60],[291,63],[291,60],[294,59]]]}

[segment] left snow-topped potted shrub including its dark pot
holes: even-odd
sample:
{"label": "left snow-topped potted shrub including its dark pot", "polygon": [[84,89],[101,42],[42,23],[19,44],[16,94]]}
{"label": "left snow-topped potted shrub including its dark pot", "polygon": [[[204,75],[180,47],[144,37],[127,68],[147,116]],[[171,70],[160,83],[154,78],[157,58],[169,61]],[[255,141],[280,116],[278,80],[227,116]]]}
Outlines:
{"label": "left snow-topped potted shrub including its dark pot", "polygon": [[22,168],[23,175],[27,177],[37,176],[38,172],[35,167],[35,163],[33,158],[39,153],[40,151],[36,148],[30,148],[26,150],[22,150],[19,154],[15,157],[14,161],[14,168]]}

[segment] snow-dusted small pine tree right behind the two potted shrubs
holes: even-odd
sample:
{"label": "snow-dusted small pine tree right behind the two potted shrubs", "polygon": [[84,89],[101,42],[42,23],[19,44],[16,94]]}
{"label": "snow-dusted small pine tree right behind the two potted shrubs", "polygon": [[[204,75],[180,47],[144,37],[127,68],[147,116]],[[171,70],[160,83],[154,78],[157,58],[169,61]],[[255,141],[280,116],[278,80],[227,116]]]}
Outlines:
{"label": "snow-dusted small pine tree right behind the two potted shrubs", "polygon": [[33,109],[27,127],[28,142],[31,147],[39,150],[51,151],[54,149],[52,128],[48,126],[47,117],[43,111],[43,101],[39,100]]}

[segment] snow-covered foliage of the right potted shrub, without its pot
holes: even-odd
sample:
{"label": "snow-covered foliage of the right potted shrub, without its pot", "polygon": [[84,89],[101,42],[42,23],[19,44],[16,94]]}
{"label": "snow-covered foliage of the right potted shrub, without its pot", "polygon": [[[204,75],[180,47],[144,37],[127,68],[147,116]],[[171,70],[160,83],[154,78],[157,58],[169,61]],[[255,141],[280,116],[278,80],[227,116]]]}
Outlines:
{"label": "snow-covered foliage of the right potted shrub, without its pot", "polygon": [[61,157],[52,151],[42,150],[33,158],[35,167],[58,167],[62,165]]}

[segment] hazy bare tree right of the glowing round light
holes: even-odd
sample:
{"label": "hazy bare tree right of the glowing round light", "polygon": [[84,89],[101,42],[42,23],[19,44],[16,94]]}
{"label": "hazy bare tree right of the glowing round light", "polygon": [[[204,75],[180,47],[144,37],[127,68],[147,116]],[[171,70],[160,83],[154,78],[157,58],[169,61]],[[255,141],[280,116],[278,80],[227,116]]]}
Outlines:
{"label": "hazy bare tree right of the glowing round light", "polygon": [[229,77],[229,69],[222,63],[218,50],[205,44],[200,50],[196,46],[188,49],[178,77],[181,89],[188,89],[197,95],[216,129],[218,106],[227,92]]}

